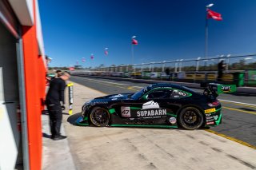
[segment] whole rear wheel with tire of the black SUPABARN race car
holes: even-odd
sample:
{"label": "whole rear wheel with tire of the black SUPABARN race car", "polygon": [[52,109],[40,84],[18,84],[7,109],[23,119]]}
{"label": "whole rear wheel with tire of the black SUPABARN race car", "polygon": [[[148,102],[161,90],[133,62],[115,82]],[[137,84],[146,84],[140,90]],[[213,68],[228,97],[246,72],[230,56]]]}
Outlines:
{"label": "whole rear wheel with tire of the black SUPABARN race car", "polygon": [[178,123],[187,130],[194,130],[200,128],[203,124],[202,112],[194,107],[187,107],[182,109],[178,114]]}

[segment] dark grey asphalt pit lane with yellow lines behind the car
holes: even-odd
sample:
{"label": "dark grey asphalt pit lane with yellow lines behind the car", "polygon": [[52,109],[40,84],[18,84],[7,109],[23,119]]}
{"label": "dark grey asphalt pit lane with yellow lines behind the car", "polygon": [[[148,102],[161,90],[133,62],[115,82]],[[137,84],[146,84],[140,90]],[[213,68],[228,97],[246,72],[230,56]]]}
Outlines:
{"label": "dark grey asphalt pit lane with yellow lines behind the car", "polygon": [[[102,93],[134,93],[145,83],[130,81],[115,81],[92,77],[72,77],[80,85],[96,89]],[[201,89],[194,89],[201,91]],[[255,94],[222,94],[218,97],[222,102],[223,121],[222,125],[210,128],[211,132],[218,132],[222,136],[232,140],[241,140],[256,146],[256,95]]]}

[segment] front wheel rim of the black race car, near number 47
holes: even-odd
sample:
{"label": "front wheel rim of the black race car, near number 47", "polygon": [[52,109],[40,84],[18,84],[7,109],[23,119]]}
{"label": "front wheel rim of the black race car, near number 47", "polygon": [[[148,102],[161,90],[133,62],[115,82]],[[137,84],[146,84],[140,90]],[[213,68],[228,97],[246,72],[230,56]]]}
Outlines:
{"label": "front wheel rim of the black race car, near number 47", "polygon": [[109,113],[106,109],[96,109],[93,113],[90,114],[91,121],[94,125],[102,126],[107,125],[110,119]]}

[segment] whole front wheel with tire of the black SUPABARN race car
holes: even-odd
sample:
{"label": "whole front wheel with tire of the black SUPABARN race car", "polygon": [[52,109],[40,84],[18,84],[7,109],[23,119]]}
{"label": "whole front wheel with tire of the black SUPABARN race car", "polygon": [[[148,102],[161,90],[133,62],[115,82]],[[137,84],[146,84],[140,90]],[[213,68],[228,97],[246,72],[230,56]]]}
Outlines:
{"label": "whole front wheel with tire of the black SUPABARN race car", "polygon": [[95,107],[90,112],[90,122],[94,126],[105,127],[110,123],[110,113],[102,107]]}

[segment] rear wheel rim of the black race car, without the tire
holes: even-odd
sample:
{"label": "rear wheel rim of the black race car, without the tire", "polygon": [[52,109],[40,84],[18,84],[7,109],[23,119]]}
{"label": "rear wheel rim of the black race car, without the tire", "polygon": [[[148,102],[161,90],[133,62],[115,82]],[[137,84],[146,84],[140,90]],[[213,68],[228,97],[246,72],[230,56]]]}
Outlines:
{"label": "rear wheel rim of the black race car, without the tire", "polygon": [[182,121],[187,127],[194,128],[201,124],[202,115],[196,109],[187,109],[182,115]]}

